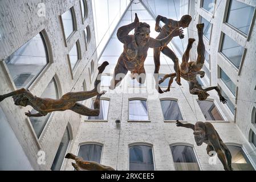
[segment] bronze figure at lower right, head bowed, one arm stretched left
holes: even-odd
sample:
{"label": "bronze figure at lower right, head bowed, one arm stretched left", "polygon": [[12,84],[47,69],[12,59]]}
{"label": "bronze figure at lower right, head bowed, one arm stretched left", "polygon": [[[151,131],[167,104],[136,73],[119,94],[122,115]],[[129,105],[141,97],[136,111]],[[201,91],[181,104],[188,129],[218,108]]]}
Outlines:
{"label": "bronze figure at lower right, head bowed, one arm stretched left", "polygon": [[210,151],[216,151],[225,171],[233,171],[233,168],[231,167],[232,156],[229,148],[227,148],[226,144],[222,141],[212,123],[198,121],[193,125],[191,123],[184,124],[177,120],[176,126],[194,130],[194,140],[196,141],[197,146],[201,146],[203,142],[208,144],[206,147],[207,154],[210,155]]}

